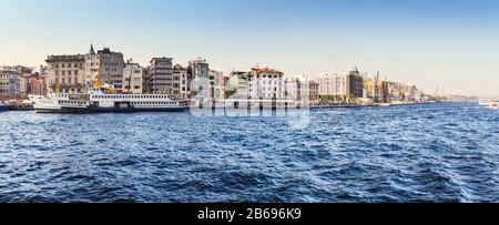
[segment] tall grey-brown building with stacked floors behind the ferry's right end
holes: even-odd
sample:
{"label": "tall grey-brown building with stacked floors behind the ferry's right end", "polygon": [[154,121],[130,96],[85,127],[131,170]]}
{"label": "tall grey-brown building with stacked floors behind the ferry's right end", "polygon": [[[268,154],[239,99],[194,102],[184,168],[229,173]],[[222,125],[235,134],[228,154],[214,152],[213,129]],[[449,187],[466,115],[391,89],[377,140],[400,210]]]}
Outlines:
{"label": "tall grey-brown building with stacked floors behind the ferry's right end", "polygon": [[173,58],[153,58],[147,75],[149,93],[172,94],[173,90]]}

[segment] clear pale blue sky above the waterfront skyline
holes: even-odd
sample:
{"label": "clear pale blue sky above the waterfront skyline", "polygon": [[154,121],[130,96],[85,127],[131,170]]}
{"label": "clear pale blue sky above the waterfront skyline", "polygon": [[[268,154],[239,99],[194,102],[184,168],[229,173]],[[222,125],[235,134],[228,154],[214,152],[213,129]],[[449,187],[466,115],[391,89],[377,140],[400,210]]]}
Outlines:
{"label": "clear pale blue sky above the waterfront skyline", "polygon": [[205,58],[230,72],[357,67],[427,93],[499,94],[497,0],[0,0],[0,64],[44,64],[90,43],[146,65]]}

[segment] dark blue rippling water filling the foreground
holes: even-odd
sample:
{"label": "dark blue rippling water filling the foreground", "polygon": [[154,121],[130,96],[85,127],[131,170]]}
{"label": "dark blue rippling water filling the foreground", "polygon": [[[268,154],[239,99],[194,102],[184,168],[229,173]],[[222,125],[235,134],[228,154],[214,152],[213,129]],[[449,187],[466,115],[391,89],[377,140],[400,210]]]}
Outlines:
{"label": "dark blue rippling water filling the foreground", "polygon": [[0,202],[499,202],[499,112],[476,104],[0,114]]}

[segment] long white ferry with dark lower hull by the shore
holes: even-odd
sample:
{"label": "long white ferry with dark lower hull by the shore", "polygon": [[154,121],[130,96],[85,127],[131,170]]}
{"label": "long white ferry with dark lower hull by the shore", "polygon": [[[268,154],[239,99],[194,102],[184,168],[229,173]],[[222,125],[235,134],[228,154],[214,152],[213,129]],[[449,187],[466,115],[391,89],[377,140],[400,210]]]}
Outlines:
{"label": "long white ferry with dark lower hull by the shore", "polygon": [[118,94],[100,90],[81,94],[51,93],[29,95],[38,113],[106,113],[167,111],[189,109],[184,100],[171,100],[166,94]]}

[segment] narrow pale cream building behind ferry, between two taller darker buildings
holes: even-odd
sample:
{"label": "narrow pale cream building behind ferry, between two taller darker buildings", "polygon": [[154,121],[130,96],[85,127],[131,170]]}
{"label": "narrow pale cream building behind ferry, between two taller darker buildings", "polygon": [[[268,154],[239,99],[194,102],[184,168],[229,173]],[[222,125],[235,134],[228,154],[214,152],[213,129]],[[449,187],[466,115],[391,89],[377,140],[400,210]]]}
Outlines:
{"label": "narrow pale cream building behind ferry, between two taller darker buildings", "polygon": [[143,69],[139,63],[128,60],[123,69],[123,92],[131,94],[142,94]]}

